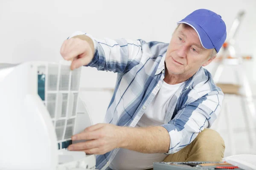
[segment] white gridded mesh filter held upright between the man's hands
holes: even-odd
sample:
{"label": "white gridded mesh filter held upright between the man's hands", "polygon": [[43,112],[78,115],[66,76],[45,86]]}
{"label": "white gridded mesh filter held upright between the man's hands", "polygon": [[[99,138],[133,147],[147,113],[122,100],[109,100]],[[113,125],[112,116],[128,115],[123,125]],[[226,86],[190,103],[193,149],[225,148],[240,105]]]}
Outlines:
{"label": "white gridded mesh filter held upright between the man's hands", "polygon": [[70,65],[48,64],[46,74],[47,109],[55,125],[59,148],[70,144],[76,123],[81,68],[71,71]]}

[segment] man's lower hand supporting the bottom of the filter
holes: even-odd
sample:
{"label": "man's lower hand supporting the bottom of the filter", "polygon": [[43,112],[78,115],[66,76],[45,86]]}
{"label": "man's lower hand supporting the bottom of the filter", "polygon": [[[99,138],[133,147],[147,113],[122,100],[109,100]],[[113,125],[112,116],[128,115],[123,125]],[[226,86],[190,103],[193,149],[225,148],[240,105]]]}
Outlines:
{"label": "man's lower hand supporting the bottom of the filter", "polygon": [[68,150],[84,151],[87,154],[105,154],[121,147],[124,138],[124,127],[111,124],[96,124],[84,129],[83,132],[72,136],[72,140],[88,140],[71,144]]}

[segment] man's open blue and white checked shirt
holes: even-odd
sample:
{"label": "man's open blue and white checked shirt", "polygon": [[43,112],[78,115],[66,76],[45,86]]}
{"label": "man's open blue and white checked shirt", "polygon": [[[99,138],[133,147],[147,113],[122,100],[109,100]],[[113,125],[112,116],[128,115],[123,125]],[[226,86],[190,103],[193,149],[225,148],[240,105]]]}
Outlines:
{"label": "man's open blue and white checked shirt", "polygon": [[[71,37],[78,34],[84,33],[76,32]],[[135,127],[163,84],[169,44],[126,39],[98,40],[86,35],[94,40],[95,48],[94,58],[87,66],[118,73],[105,122]],[[223,97],[211,74],[202,67],[186,80],[170,100],[162,125],[170,136],[166,154],[177,152],[190,144],[204,128],[211,127],[220,113]],[[97,155],[96,168],[109,169],[108,165],[118,150]]]}

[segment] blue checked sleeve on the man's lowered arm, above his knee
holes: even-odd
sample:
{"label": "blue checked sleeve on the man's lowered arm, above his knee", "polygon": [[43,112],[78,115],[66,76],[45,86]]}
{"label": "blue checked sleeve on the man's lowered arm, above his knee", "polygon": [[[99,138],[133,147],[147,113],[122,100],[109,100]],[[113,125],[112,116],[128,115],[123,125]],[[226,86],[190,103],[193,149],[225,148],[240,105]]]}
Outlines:
{"label": "blue checked sleeve on the man's lowered arm, above his knee", "polygon": [[170,136],[170,147],[166,154],[176,153],[190,144],[204,128],[211,127],[220,113],[223,97],[222,91],[210,91],[184,105],[174,119],[162,125]]}

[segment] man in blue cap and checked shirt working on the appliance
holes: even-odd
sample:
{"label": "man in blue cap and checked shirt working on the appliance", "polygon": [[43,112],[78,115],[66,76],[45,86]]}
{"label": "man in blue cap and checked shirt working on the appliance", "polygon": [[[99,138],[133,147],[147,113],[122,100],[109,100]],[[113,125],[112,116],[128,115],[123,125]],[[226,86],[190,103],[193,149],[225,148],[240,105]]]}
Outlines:
{"label": "man in blue cap and checked shirt working on the appliance", "polygon": [[85,65],[118,73],[106,124],[72,136],[88,141],[69,150],[97,154],[97,169],[115,170],[149,169],[164,159],[223,158],[221,137],[204,130],[217,118],[223,93],[202,66],[223,45],[225,23],[220,15],[199,9],[177,24],[169,44],[96,40],[88,34],[64,41],[61,55],[72,60],[71,69]]}

